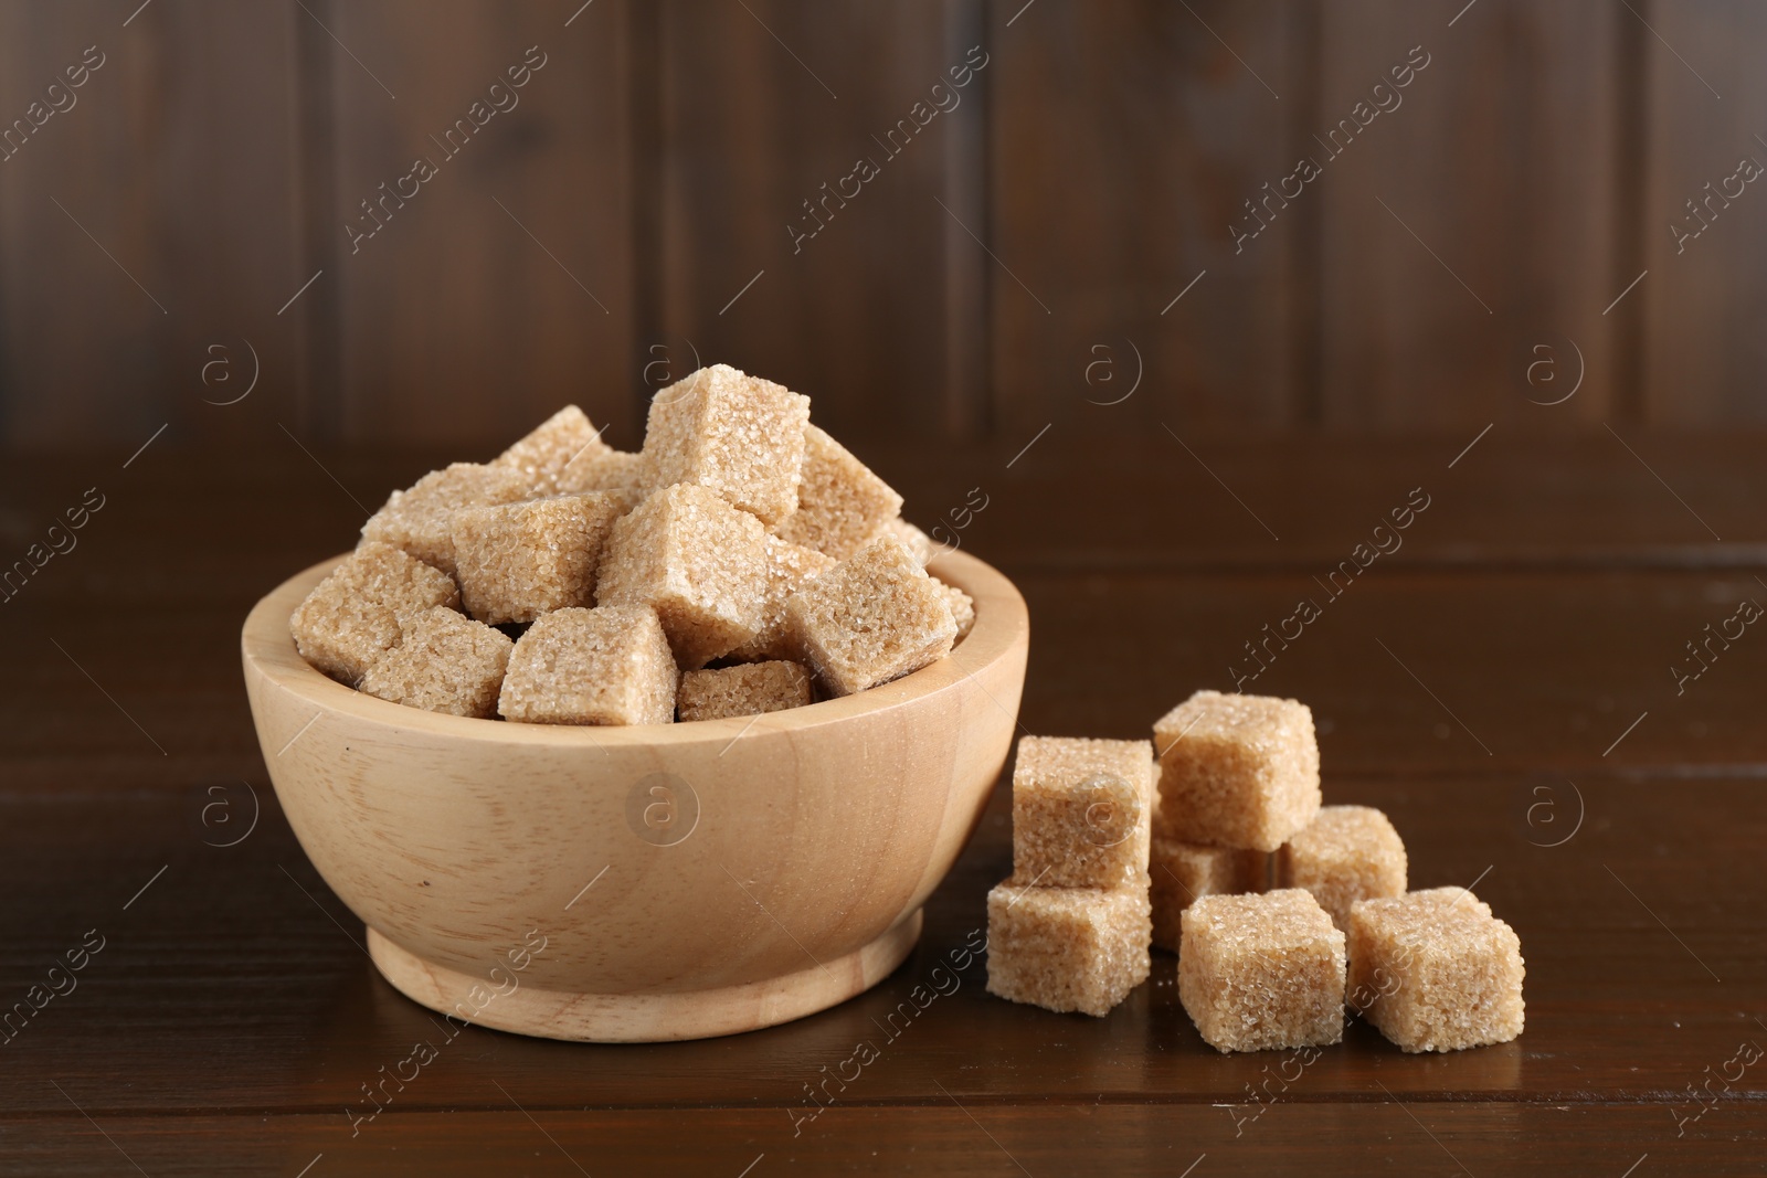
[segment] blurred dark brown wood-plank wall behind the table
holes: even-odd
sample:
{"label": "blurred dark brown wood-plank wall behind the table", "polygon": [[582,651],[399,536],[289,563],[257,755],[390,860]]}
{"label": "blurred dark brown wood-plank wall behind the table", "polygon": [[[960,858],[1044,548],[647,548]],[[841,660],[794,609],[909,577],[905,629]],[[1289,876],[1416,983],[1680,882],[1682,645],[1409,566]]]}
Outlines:
{"label": "blurred dark brown wood-plank wall behind the table", "polygon": [[1670,226],[1767,161],[1763,48],[1742,0],[0,0],[0,445],[634,445],[694,355],[855,442],[1760,424],[1767,193]]}

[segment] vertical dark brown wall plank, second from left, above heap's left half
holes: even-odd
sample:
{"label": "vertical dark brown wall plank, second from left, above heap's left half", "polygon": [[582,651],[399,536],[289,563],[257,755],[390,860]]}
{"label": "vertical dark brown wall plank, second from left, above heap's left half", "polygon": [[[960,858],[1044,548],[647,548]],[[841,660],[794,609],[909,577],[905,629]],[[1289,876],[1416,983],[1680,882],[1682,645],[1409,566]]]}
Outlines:
{"label": "vertical dark brown wall plank, second from left, above heap's left half", "polygon": [[346,438],[488,457],[574,401],[638,443],[627,7],[573,9],[325,11]]}

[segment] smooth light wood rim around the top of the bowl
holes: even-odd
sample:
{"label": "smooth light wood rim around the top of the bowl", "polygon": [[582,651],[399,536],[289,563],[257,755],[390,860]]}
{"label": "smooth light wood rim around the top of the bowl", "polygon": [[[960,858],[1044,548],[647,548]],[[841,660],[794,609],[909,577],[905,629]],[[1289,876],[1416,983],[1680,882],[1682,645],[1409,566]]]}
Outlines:
{"label": "smooth light wood rim around the top of the bowl", "polygon": [[[956,703],[959,689],[968,682],[974,682],[991,698],[979,673],[1004,659],[1014,655],[1025,657],[1030,634],[1030,613],[1012,581],[975,556],[961,551],[944,551],[928,563],[928,572],[940,581],[956,585],[974,599],[975,623],[947,657],[889,683],[852,696],[823,699],[802,708],[717,721],[633,726],[489,721],[428,712],[378,699],[376,696],[339,683],[300,657],[288,631],[288,616],[348,556],[350,553],[339,553],[302,569],[265,593],[251,608],[246,623],[240,627],[240,657],[247,682],[254,676],[262,678],[269,685],[313,705],[316,708],[315,719],[325,714],[348,715],[366,724],[451,740],[555,749],[599,747],[604,751],[680,747],[707,742],[728,747],[746,733],[800,733],[938,696],[951,696],[951,701]],[[1009,715],[1012,714],[998,699],[995,699],[995,706],[1000,706]]]}

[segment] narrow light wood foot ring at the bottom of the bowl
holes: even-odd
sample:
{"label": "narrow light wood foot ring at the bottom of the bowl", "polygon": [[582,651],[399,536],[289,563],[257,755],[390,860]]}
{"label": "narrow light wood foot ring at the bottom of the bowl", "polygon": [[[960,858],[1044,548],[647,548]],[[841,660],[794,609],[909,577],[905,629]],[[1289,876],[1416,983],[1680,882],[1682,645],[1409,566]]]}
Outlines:
{"label": "narrow light wood foot ring at the bottom of the bowl", "polygon": [[[723,989],[680,994],[578,994],[518,985],[507,994],[470,973],[424,961],[375,929],[368,952],[394,989],[440,1014],[461,1017],[479,1007],[472,1023],[541,1038],[599,1044],[641,1044],[671,1038],[712,1038],[802,1019],[862,994],[896,970],[921,940],[921,910],[896,922],[884,936],[797,973]],[[481,1001],[468,998],[479,991]]]}

